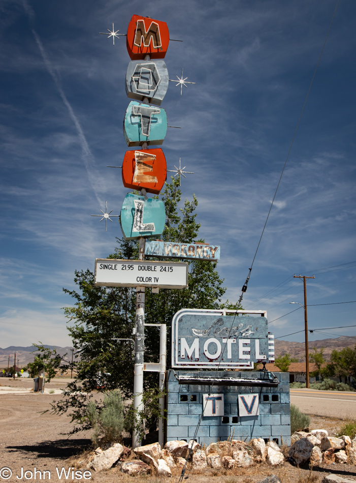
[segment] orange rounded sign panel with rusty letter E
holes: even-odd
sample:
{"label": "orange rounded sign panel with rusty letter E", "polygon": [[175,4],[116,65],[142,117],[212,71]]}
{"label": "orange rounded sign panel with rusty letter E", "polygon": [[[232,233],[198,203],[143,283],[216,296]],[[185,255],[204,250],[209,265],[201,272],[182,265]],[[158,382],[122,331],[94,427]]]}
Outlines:
{"label": "orange rounded sign panel with rusty letter E", "polygon": [[122,162],[125,188],[158,194],[167,178],[167,163],[162,149],[126,151]]}

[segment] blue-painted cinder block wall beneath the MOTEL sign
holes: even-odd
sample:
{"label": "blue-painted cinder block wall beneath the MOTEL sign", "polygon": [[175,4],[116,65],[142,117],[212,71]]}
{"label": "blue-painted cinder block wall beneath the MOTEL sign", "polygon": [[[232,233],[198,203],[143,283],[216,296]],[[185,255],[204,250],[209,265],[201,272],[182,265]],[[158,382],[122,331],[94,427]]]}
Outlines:
{"label": "blue-painted cinder block wall beneath the MOTEL sign", "polygon": [[[263,377],[260,372],[234,371],[176,371],[178,375],[216,377]],[[278,444],[290,444],[290,399],[289,373],[276,373],[280,381],[278,387],[213,386],[212,394],[223,393],[224,417],[203,416],[195,439],[198,443],[228,439],[234,432],[234,439],[250,440],[263,438],[275,440]],[[209,386],[179,384],[173,370],[168,371],[167,380],[167,441],[192,439],[200,416],[203,413],[203,394],[209,393]],[[240,417],[238,414],[238,394],[258,394],[260,415]]]}

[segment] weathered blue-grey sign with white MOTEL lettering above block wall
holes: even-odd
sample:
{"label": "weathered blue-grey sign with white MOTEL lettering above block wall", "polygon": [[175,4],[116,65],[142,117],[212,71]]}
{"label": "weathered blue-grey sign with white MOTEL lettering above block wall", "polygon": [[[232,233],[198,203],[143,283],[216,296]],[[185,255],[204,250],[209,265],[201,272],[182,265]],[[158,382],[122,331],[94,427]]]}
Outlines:
{"label": "weathered blue-grey sign with white MOTEL lettering above block wall", "polygon": [[182,309],[172,319],[172,368],[253,369],[274,358],[270,336],[264,310]]}

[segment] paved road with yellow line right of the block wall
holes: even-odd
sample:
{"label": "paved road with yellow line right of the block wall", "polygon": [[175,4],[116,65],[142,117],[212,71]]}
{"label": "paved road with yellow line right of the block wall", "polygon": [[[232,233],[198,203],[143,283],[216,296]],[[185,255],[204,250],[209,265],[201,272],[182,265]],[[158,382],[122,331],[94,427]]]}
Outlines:
{"label": "paved road with yellow line right of the block wall", "polygon": [[307,414],[356,419],[356,393],[290,389],[290,402]]}

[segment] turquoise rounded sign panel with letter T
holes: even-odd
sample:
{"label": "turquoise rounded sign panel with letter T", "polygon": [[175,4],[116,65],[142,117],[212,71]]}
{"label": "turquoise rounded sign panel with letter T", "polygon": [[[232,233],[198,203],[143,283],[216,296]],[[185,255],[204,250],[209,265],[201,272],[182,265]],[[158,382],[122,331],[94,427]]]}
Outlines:
{"label": "turquoise rounded sign panel with letter T", "polygon": [[142,143],[162,144],[167,134],[167,114],[161,107],[131,101],[123,121],[123,135],[127,146]]}

